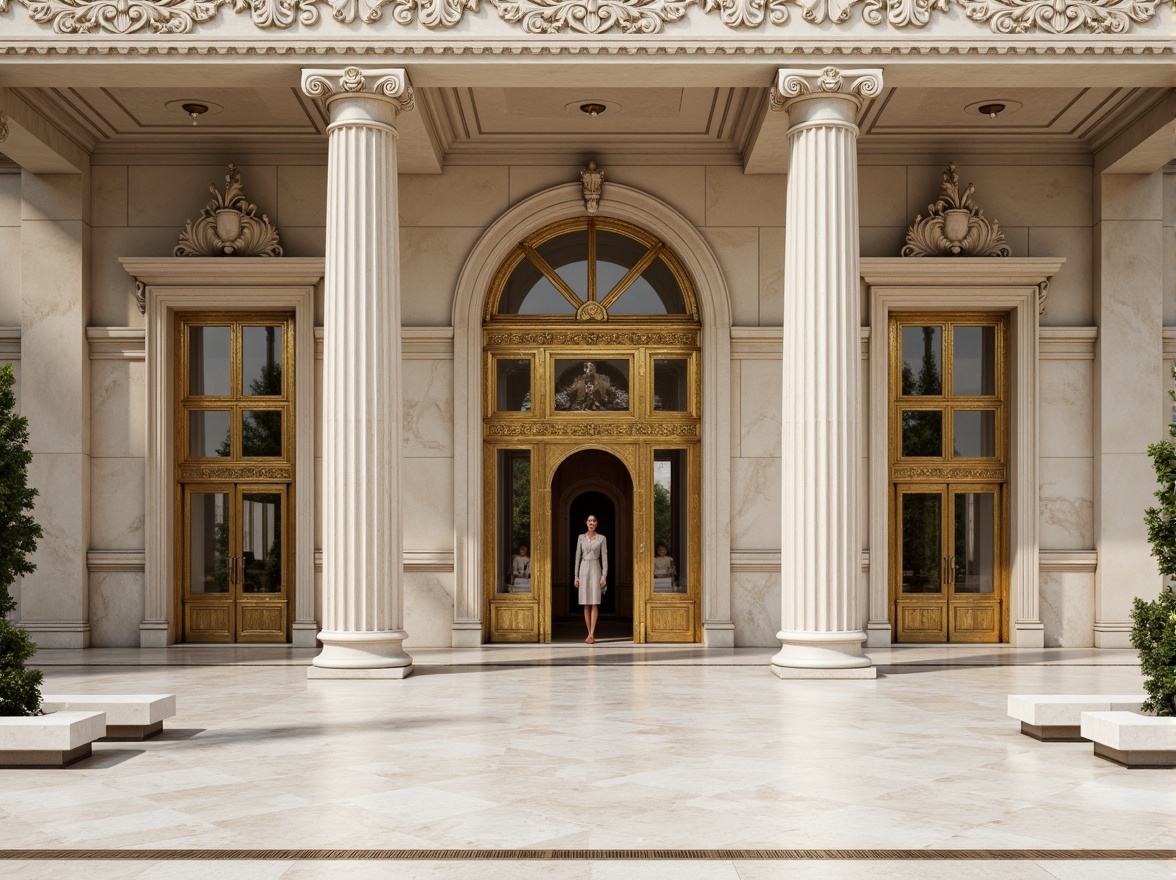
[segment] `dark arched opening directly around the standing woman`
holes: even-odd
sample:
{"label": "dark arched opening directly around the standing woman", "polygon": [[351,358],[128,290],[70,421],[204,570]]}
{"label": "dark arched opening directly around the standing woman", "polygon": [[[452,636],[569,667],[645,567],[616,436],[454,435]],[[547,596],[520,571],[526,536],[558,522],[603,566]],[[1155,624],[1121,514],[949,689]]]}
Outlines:
{"label": "dark arched opening directly around the standing woman", "polygon": [[564,459],[552,478],[552,640],[582,641],[575,579],[576,539],[588,516],[608,541],[609,588],[601,596],[597,641],[633,638],[633,479],[624,462],[600,449]]}

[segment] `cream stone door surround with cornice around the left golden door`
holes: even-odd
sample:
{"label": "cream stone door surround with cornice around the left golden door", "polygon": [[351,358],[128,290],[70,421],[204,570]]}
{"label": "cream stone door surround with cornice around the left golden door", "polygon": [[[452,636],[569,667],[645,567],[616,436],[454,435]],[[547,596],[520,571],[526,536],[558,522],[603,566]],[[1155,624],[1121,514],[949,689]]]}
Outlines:
{"label": "cream stone door surround with cornice around the left golden door", "polygon": [[[120,258],[142,296],[147,326],[143,620],[139,645],[175,642],[175,314],[294,312],[295,647],[314,647],[314,294],[322,258]],[[242,295],[242,293],[245,295]]]}

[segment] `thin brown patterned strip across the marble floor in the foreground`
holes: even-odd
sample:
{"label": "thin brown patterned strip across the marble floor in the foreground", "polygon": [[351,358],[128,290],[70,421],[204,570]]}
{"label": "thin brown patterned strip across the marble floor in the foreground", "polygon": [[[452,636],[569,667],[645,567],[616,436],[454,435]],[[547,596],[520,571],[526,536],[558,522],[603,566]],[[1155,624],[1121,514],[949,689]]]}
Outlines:
{"label": "thin brown patterned strip across the marble floor in the foreground", "polygon": [[1168,861],[1176,849],[0,849],[4,861]]}

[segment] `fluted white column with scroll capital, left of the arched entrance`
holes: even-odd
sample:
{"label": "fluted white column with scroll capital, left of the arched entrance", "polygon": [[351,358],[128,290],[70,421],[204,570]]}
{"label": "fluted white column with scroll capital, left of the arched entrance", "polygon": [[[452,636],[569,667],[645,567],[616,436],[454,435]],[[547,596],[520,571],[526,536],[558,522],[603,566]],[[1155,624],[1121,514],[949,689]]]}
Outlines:
{"label": "fluted white column with scroll capital, left of the arched entrance", "polygon": [[[405,678],[400,511],[403,69],[302,72],[330,116],[322,362],[322,653],[310,678]],[[306,514],[303,514],[306,515]]]}

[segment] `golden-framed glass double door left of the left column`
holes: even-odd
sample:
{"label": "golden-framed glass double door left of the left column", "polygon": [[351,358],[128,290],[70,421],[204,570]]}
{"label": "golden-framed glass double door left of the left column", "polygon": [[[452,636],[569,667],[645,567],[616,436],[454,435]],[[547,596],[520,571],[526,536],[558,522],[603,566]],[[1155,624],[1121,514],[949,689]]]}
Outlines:
{"label": "golden-framed glass double door left of the left column", "polygon": [[289,640],[293,326],[288,314],[176,321],[181,641]]}

